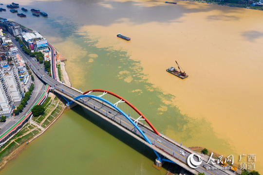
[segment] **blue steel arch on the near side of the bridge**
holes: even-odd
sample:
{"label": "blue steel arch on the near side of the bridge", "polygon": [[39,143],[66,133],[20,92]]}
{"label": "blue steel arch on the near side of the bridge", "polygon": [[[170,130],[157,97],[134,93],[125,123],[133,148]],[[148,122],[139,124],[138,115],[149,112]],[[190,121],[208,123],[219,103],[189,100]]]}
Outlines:
{"label": "blue steel arch on the near side of the bridge", "polygon": [[[115,110],[117,110],[119,113],[121,113],[121,115],[123,115],[126,119],[128,119],[128,121],[141,133],[141,135],[143,136],[143,138],[151,144],[150,140],[147,138],[147,136],[142,132],[142,130],[131,120],[131,118],[129,116],[127,116],[127,114],[125,114],[122,110],[120,110],[117,106],[113,105],[111,102],[101,98],[101,97],[98,97],[98,96],[95,96],[95,95],[79,95],[77,97],[74,98],[74,100],[77,100],[79,98],[83,98],[83,97],[89,97],[89,98],[94,98],[94,99],[97,99],[97,100],[100,100],[110,106],[112,106]],[[68,102],[68,105],[71,105],[73,104],[74,102],[71,101],[71,102]]]}

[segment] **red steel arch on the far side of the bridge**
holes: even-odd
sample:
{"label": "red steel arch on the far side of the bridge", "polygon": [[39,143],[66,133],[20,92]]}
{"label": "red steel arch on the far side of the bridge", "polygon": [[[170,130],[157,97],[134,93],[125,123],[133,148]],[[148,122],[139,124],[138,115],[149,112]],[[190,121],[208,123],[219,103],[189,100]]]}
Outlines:
{"label": "red steel arch on the far side of the bridge", "polygon": [[149,122],[149,120],[133,105],[131,105],[127,100],[123,99],[122,97],[118,96],[117,94],[114,94],[113,92],[107,91],[107,90],[102,90],[102,89],[93,89],[93,90],[89,90],[87,92],[84,92],[83,95],[89,93],[89,92],[107,92],[110,95],[113,95],[114,97],[117,97],[120,100],[123,100],[127,105],[129,105],[133,110],[135,110],[135,112],[137,112],[137,114],[139,114],[140,116],[142,116],[142,118],[146,121],[146,123],[149,124],[150,128],[155,132],[155,134],[157,134],[158,136],[160,136],[160,134],[158,133],[158,131],[153,127],[153,125]]}

